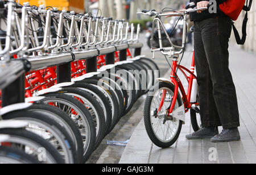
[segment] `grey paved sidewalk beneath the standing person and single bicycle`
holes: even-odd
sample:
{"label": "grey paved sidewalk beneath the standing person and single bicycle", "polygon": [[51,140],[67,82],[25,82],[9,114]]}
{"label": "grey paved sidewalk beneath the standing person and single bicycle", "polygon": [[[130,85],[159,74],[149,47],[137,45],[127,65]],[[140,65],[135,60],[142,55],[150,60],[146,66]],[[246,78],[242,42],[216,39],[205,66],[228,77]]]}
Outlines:
{"label": "grey paved sidewalk beneath the standing person and single bicycle", "polygon": [[[182,65],[189,67],[189,53]],[[144,128],[143,119],[130,138],[119,163],[121,164],[162,164],[162,163],[256,163],[256,55],[234,46],[230,47],[230,70],[237,89],[240,109],[241,141],[231,143],[210,143],[209,140],[187,140],[185,135],[192,132],[189,113],[181,130],[179,140],[170,148],[161,149],[152,144]],[[168,77],[168,74],[166,75]],[[143,115],[143,105],[134,115]],[[221,131],[222,128],[220,127]],[[211,151],[217,151],[216,161]]]}

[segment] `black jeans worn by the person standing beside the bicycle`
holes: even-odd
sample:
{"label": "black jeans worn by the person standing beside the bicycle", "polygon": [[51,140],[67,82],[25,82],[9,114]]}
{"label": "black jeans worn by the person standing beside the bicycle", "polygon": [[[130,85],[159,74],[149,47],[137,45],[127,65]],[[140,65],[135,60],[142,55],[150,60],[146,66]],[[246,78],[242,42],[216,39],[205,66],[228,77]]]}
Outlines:
{"label": "black jeans worn by the person standing beside the bicycle", "polygon": [[195,22],[195,60],[203,127],[240,126],[236,88],[229,70],[231,20],[220,16]]}

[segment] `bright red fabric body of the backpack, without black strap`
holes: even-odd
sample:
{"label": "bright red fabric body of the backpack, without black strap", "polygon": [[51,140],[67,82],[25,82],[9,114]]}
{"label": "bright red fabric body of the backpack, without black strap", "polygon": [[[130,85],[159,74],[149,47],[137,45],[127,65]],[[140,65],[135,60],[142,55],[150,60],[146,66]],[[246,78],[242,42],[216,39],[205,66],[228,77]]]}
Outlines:
{"label": "bright red fabric body of the backpack, without black strap", "polygon": [[220,5],[220,9],[232,20],[237,20],[244,5],[245,0],[228,0]]}

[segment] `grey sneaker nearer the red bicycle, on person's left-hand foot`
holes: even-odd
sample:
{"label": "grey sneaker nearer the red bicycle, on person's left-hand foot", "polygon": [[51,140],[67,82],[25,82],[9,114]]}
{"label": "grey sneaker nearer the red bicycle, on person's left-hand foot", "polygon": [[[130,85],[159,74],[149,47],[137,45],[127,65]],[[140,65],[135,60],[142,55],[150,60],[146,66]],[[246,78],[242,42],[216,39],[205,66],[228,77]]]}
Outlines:
{"label": "grey sneaker nearer the red bicycle, on person's left-hand foot", "polygon": [[218,127],[207,127],[202,128],[199,131],[193,132],[192,134],[186,135],[186,138],[191,139],[210,139],[218,134]]}

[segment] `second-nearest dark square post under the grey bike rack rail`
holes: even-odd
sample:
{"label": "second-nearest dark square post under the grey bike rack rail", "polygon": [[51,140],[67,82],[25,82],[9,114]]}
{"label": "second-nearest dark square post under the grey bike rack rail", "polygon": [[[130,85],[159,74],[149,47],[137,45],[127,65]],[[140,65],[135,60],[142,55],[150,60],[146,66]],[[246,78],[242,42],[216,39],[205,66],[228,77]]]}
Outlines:
{"label": "second-nearest dark square post under the grey bike rack rail", "polygon": [[71,62],[57,65],[57,84],[71,82]]}

